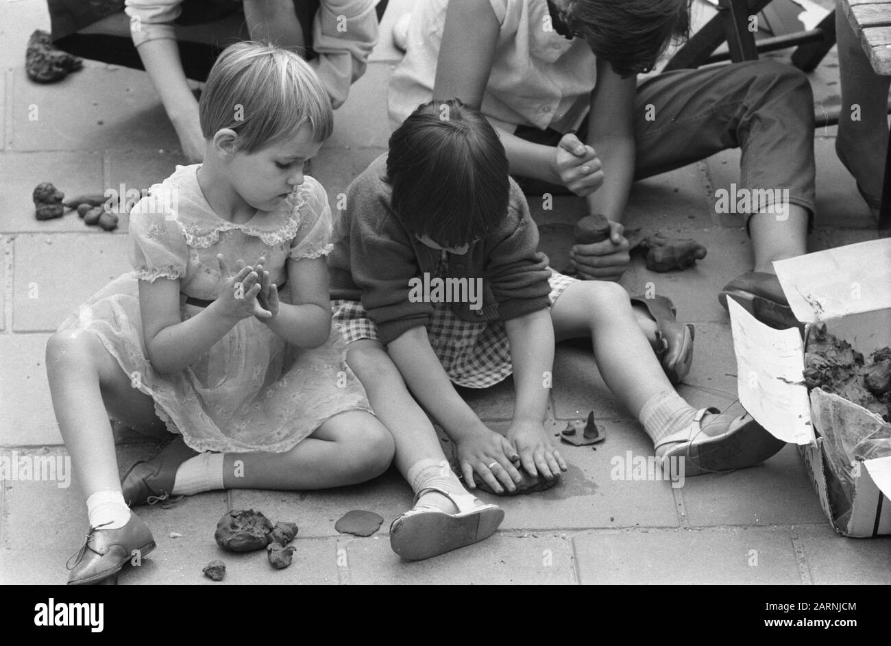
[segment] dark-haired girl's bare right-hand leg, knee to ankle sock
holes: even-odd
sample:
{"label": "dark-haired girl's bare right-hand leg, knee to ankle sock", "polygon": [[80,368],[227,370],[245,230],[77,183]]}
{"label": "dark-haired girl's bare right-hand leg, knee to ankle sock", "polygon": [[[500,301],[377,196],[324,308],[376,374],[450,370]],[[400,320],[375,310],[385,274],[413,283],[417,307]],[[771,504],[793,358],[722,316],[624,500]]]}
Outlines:
{"label": "dark-haired girl's bare right-hand leg, knee to ankle sock", "polygon": [[603,380],[637,416],[650,397],[673,390],[642,334],[628,294],[615,282],[568,286],[551,308],[558,341],[590,337]]}

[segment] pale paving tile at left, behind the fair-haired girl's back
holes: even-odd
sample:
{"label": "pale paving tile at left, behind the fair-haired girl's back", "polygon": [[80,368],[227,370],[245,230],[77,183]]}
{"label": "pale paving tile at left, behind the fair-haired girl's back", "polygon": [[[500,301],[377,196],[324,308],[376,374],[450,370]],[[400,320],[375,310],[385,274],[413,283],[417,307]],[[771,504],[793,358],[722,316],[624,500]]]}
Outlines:
{"label": "pale paving tile at left, behind the fair-haired girl's back", "polygon": [[87,298],[131,269],[127,236],[100,233],[15,239],[13,330],[55,331]]}

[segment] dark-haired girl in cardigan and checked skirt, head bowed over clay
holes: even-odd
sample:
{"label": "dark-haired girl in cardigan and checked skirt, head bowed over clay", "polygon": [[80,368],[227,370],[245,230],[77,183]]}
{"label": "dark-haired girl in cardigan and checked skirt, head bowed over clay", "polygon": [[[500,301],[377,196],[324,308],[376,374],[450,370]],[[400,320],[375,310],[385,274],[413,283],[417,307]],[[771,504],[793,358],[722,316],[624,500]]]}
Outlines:
{"label": "dark-haired girl in cardigan and checked skirt, head bowed over clay", "polygon": [[[546,265],[508,170],[499,136],[478,110],[429,102],[391,135],[388,154],[350,184],[335,226],[334,321],[417,495],[418,506],[391,529],[397,553],[431,556],[496,527],[478,531],[472,515],[484,512],[443,467],[421,406],[454,441],[467,487],[478,478],[497,494],[513,493],[552,484],[566,470],[544,429],[560,339],[592,339],[609,388],[641,421],[660,459],[684,459],[685,475],[748,467],[782,446],[748,415],[729,419],[685,402],[617,283],[579,281]],[[436,280],[479,289],[419,292]],[[446,293],[455,292],[467,298],[447,302]],[[471,298],[477,293],[481,298]],[[511,373],[516,400],[502,436],[486,428],[454,384],[486,388]]]}

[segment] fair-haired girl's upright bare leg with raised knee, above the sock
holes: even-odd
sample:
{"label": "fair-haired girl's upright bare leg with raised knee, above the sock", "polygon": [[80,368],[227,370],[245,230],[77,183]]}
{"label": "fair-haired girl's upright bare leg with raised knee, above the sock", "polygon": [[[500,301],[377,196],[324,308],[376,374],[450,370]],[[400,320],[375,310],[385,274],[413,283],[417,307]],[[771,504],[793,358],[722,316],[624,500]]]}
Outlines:
{"label": "fair-haired girl's upright bare leg with raised knee, above the sock", "polygon": [[130,378],[92,332],[56,332],[46,345],[46,373],[62,439],[86,497],[120,491],[109,415],[127,426],[166,432],[151,397]]}

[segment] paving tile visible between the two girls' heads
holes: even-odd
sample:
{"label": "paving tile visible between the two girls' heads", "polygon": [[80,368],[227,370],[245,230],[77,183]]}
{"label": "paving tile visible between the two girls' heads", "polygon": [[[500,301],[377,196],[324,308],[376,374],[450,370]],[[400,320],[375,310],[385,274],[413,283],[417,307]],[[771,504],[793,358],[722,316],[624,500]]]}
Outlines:
{"label": "paving tile visible between the two girls' heads", "polygon": [[334,110],[334,135],[326,145],[339,148],[386,148],[390,129],[386,87],[393,65],[372,62],[349,90],[347,102]]}

